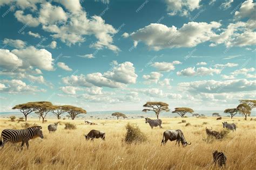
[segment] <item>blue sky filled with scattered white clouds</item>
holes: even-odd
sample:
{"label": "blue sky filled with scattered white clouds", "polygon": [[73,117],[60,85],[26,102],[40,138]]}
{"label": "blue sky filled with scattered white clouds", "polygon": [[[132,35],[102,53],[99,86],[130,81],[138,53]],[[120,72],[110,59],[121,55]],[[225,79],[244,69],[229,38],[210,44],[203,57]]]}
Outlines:
{"label": "blue sky filled with scattered white clouds", "polygon": [[0,112],[146,101],[223,110],[255,99],[255,1],[0,1]]}

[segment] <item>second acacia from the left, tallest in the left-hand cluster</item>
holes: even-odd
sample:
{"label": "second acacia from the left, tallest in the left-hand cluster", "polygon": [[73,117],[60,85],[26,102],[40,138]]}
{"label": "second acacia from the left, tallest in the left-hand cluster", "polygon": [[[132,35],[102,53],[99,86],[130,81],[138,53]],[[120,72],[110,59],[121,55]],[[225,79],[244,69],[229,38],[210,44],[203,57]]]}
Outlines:
{"label": "second acacia from the left, tallest in the left-hand cluster", "polygon": [[39,115],[39,118],[42,118],[43,123],[44,123],[44,119],[45,119],[46,115],[50,111],[57,109],[57,106],[52,105],[52,103],[49,101],[29,102],[29,104],[33,104],[33,107],[36,111],[35,113]]}

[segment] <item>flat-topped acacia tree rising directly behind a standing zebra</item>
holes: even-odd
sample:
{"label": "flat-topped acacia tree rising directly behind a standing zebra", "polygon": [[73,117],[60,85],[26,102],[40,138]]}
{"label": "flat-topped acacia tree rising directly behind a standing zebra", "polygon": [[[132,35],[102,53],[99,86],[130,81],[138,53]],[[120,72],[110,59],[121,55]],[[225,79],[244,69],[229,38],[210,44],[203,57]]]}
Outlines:
{"label": "flat-topped acacia tree rising directly behind a standing zebra", "polygon": [[144,108],[143,112],[147,111],[153,111],[157,115],[157,119],[159,118],[160,112],[169,112],[169,105],[167,103],[161,102],[161,101],[148,101],[143,107],[150,107],[150,108]]}

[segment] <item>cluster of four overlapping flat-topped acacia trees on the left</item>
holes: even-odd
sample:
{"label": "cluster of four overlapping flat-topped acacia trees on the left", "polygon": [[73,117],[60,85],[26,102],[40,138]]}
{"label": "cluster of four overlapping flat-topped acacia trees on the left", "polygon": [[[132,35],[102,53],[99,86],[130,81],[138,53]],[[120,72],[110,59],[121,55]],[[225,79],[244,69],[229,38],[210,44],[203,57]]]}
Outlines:
{"label": "cluster of four overlapping flat-topped acacia trees on the left", "polygon": [[27,117],[30,113],[35,112],[39,119],[42,118],[42,122],[44,123],[44,120],[46,118],[46,115],[51,112],[58,119],[60,119],[60,115],[63,113],[68,113],[68,118],[71,118],[74,120],[78,114],[86,114],[86,110],[84,110],[81,107],[71,106],[71,105],[63,105],[63,106],[57,106],[52,105],[49,101],[35,101],[35,102],[28,102],[24,104],[19,104],[14,106],[12,109],[18,109],[24,114],[25,121],[27,120]]}

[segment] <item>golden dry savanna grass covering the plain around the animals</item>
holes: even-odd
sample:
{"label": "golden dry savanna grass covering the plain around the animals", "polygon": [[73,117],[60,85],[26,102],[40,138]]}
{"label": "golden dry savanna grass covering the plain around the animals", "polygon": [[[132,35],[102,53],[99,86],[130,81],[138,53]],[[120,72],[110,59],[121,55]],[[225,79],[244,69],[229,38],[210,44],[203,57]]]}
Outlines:
{"label": "golden dry savanna grass covering the plain around the animals", "polygon": [[[30,140],[29,150],[19,149],[21,143],[6,144],[0,150],[1,169],[218,169],[214,166],[212,152],[216,149],[227,155],[226,169],[256,168],[256,121],[243,118],[163,118],[163,129],[151,130],[145,119],[93,120],[99,125],[85,125],[83,120],[60,120],[55,133],[49,134],[47,126],[57,120],[48,119],[42,124],[36,119],[28,123],[43,127],[44,139]],[[179,123],[186,120],[191,125]],[[221,122],[234,122],[238,128],[221,140],[205,141],[205,127],[221,131]],[[76,130],[65,130],[64,123],[76,124]],[[147,136],[142,144],[126,144],[125,125],[137,123]],[[6,128],[21,129],[23,123],[0,119],[0,132]],[[106,132],[106,140],[86,141],[84,134],[90,130]],[[160,146],[165,130],[180,129],[191,145],[178,147],[175,141]]]}

